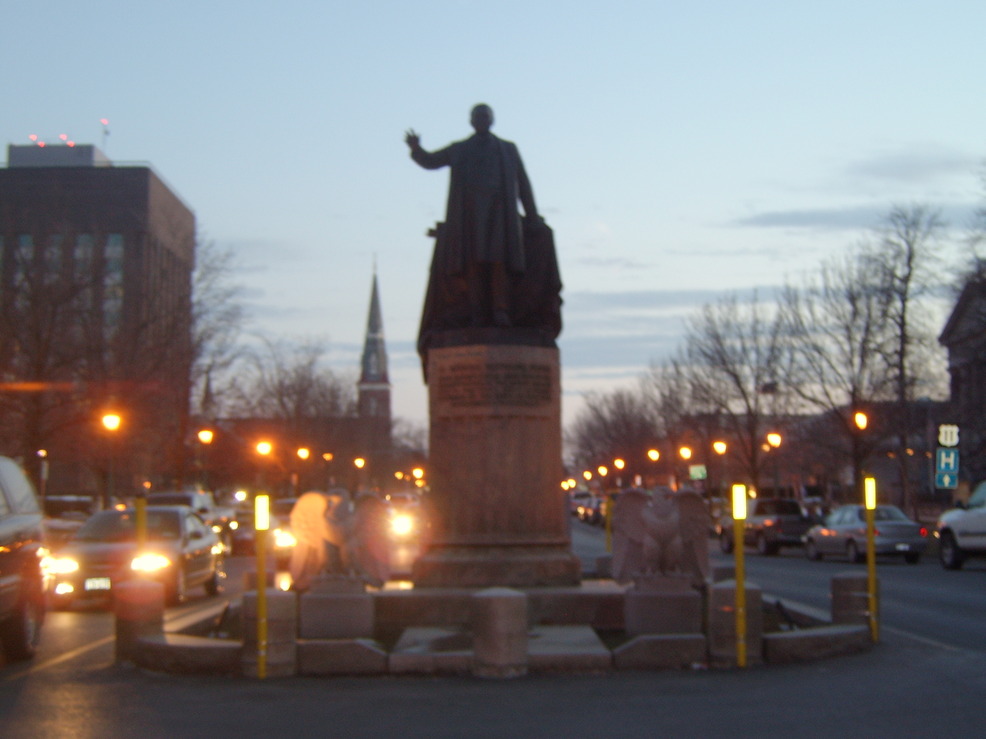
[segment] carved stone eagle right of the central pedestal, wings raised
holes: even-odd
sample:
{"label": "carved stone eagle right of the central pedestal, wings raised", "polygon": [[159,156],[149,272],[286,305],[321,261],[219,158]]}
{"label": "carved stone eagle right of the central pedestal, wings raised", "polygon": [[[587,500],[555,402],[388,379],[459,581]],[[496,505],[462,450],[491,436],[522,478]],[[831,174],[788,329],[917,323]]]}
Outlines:
{"label": "carved stone eagle right of the central pedestal, wings raised", "polygon": [[687,575],[696,585],[709,572],[709,514],[691,491],[631,488],[613,511],[613,578]]}

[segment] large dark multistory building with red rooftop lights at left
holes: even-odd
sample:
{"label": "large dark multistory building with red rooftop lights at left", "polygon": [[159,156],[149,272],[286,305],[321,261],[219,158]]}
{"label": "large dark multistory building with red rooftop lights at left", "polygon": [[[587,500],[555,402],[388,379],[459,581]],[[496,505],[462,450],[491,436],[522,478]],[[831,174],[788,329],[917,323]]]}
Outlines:
{"label": "large dark multistory building with red rooftop lights at left", "polygon": [[[30,465],[46,449],[53,486],[64,474],[97,490],[112,458],[120,494],[179,470],[194,262],[195,216],[150,167],[116,166],[93,146],[9,146],[0,169],[3,453]],[[123,417],[112,438],[98,426],[111,407]]]}

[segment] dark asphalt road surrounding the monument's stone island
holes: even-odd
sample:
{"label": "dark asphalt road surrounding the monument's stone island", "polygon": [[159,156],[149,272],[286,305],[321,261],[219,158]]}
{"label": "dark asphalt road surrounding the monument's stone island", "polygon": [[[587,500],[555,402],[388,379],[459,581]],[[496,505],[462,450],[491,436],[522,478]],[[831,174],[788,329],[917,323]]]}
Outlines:
{"label": "dark asphalt road surrounding the monument's stone island", "polygon": [[[579,526],[576,553],[594,561],[602,532]],[[873,651],[748,670],[506,681],[180,677],[114,665],[109,614],[55,613],[38,659],[0,667],[0,737],[981,736],[986,628],[978,642],[973,632],[986,605],[986,568],[970,565],[959,573],[935,562],[881,566],[887,627]],[[847,567],[853,566],[808,562],[797,552],[747,557],[751,577],[769,577],[771,590],[789,589],[822,605],[827,576]],[[971,604],[970,643],[950,633],[924,638],[910,622],[892,625],[898,612],[914,618],[899,604],[917,598],[925,604],[914,604],[914,612],[937,610],[942,618],[945,608],[935,598],[953,588],[948,604],[961,602],[962,593]],[[196,594],[167,616],[214,602]]]}

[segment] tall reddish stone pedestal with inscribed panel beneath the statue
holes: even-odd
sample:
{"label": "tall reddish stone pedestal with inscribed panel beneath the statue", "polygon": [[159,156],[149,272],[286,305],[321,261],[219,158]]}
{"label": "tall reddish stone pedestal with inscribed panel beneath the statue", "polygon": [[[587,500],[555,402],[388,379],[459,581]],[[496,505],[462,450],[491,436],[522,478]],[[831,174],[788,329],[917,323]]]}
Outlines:
{"label": "tall reddish stone pedestal with inscribed panel beneath the statue", "polygon": [[558,350],[428,352],[433,538],[415,587],[573,585]]}

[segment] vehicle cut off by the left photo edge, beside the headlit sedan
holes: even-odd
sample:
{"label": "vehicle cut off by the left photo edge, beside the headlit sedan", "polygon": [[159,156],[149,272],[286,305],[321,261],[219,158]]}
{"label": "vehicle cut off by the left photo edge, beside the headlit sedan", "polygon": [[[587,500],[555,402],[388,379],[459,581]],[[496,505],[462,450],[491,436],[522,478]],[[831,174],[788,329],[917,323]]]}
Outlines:
{"label": "vehicle cut off by the left photo edge, beside the headlit sedan", "polygon": [[0,647],[11,661],[34,656],[44,623],[42,522],[24,472],[0,457]]}

